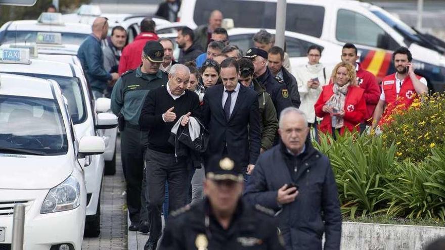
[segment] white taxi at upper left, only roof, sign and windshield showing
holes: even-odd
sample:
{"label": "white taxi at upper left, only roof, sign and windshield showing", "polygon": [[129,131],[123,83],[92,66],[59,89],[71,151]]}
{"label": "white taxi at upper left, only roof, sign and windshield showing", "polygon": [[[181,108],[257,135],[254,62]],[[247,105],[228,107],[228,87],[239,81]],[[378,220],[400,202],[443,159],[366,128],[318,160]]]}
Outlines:
{"label": "white taxi at upper left, only roof, sign and windshield showing", "polygon": [[83,23],[65,23],[60,13],[42,13],[38,20],[9,21],[0,28],[0,44],[30,43],[37,39],[54,39],[61,33],[62,44],[77,44],[91,34],[91,26]]}

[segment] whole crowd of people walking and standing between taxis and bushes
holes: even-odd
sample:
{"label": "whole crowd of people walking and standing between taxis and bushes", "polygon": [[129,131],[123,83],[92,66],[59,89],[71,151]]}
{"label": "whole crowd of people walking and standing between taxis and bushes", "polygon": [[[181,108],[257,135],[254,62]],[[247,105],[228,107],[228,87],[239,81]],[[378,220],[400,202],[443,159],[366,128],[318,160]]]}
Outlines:
{"label": "whole crowd of people walking and standing between taxis and bushes", "polygon": [[[176,4],[158,12],[174,19]],[[274,35],[260,30],[244,52],[221,20],[215,10],[173,41],[147,18],[125,45],[125,29],[107,37],[99,17],[79,48],[94,96],[111,96],[118,116],[128,229],[150,232],[145,249],[322,249],[323,234],[324,249],[339,249],[335,178],[310,137],[375,129],[385,106],[426,93],[425,79],[400,47],[379,86],[351,43],[333,70],[308,47],[293,75]]]}

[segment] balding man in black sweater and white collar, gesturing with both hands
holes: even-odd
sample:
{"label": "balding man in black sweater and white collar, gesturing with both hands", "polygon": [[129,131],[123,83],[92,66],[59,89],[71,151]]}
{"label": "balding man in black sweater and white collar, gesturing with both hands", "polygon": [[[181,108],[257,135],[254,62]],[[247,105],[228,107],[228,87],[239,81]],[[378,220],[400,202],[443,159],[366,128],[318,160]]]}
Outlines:
{"label": "balding man in black sweater and white collar, gesturing with both hands", "polygon": [[168,137],[171,128],[182,116],[182,126],[188,124],[190,116],[200,117],[199,97],[186,89],[189,78],[190,71],[186,66],[173,65],[167,85],[148,93],[139,118],[141,129],[149,130],[145,160],[150,238],[144,249],[156,249],[161,236],[165,181],[168,182],[169,209],[174,211],[187,204],[187,158],[175,156],[174,146],[168,143]]}

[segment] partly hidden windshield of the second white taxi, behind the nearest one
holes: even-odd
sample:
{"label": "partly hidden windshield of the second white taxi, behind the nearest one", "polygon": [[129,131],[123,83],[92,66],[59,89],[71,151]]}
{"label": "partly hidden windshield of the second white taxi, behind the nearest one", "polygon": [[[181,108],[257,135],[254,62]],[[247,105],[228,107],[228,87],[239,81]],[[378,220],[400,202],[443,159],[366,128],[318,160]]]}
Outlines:
{"label": "partly hidden windshield of the second white taxi, behind the nearest one", "polygon": [[34,73],[15,73],[17,75],[33,76],[42,79],[51,79],[59,83],[62,94],[68,101],[68,112],[73,124],[79,124],[86,119],[86,108],[83,102],[83,91],[77,77],[55,76]]}

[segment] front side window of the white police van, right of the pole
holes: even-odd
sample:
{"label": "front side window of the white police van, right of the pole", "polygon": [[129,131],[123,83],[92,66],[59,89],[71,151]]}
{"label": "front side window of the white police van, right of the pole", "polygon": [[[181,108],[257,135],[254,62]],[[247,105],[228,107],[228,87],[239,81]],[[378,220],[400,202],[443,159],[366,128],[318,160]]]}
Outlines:
{"label": "front side window of the white police van, right of the pole", "polygon": [[[365,27],[365,28],[364,28]],[[397,42],[369,18],[348,10],[337,14],[337,40],[383,49],[395,49]]]}

